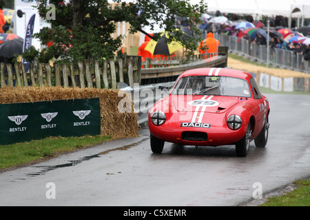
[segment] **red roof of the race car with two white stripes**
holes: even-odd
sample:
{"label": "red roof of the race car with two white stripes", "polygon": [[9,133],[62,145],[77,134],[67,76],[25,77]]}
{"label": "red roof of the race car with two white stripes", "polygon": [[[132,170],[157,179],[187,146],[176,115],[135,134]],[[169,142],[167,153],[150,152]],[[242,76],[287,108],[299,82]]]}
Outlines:
{"label": "red roof of the race car with two white stripes", "polygon": [[180,77],[185,76],[231,76],[235,78],[242,78],[245,80],[249,80],[251,78],[251,74],[249,74],[248,72],[238,69],[218,67],[189,69],[180,75]]}

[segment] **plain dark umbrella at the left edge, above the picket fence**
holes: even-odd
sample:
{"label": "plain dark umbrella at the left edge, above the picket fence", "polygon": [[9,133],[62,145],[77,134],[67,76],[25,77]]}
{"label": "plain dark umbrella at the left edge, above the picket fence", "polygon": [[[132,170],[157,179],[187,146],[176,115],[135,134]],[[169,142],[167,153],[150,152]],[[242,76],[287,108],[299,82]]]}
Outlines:
{"label": "plain dark umbrella at the left edge, above the picket fence", "polygon": [[23,53],[23,39],[12,39],[0,44],[0,56],[12,58],[15,54]]}

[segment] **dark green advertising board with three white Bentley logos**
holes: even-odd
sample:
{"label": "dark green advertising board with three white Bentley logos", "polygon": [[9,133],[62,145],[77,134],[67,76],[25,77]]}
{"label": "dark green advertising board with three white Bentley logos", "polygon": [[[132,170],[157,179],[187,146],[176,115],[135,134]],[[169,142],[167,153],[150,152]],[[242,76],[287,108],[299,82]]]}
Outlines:
{"label": "dark green advertising board with three white Bentley logos", "polygon": [[0,144],[99,135],[99,98],[0,104]]}

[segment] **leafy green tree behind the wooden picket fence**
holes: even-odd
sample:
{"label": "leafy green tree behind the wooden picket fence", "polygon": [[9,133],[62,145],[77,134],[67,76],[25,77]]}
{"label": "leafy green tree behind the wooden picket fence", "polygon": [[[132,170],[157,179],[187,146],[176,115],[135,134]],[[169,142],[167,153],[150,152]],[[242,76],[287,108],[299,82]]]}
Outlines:
{"label": "leafy green tree behind the wooden picket fence", "polygon": [[[114,7],[107,0],[36,1],[40,16],[50,23],[50,27],[43,28],[34,37],[42,45],[50,46],[41,52],[32,48],[23,57],[33,61],[37,56],[39,62],[44,63],[53,57],[61,58],[61,61],[113,58],[121,47],[123,36],[112,39],[111,34],[116,32],[116,23],[122,21],[130,23],[131,33],[143,32],[145,25],[152,28],[155,23],[161,23],[167,32],[174,32],[169,41],[180,41],[188,52],[193,52],[200,38],[185,40],[184,33],[176,30],[176,18],[185,17],[188,23],[198,23],[201,13],[207,11],[203,0],[199,5],[191,5],[190,0],[136,0],[135,3],[114,0],[118,3]],[[51,10],[55,14],[52,19]],[[199,32],[196,28],[192,30],[194,34]],[[154,39],[158,37],[159,34],[153,36]]]}

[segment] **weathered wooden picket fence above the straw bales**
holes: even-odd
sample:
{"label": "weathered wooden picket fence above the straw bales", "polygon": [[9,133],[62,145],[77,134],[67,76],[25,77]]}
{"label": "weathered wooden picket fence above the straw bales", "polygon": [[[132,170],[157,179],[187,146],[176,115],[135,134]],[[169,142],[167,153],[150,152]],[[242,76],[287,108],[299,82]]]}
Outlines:
{"label": "weathered wooden picket fence above the straw bales", "polygon": [[125,56],[124,58],[99,61],[79,61],[78,68],[74,64],[38,63],[30,64],[28,72],[21,63],[0,63],[0,86],[63,86],[116,89],[118,82],[133,86],[141,82],[141,56]]}

